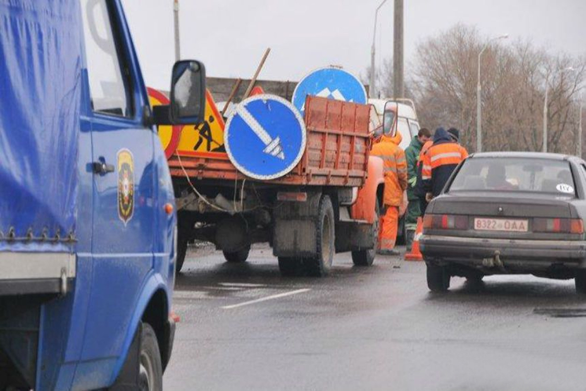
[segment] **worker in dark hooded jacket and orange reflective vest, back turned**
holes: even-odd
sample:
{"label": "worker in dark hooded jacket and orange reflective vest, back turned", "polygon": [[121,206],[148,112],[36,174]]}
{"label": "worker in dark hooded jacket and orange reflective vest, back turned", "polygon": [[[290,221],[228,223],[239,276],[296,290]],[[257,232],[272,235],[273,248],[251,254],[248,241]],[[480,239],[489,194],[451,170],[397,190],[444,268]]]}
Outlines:
{"label": "worker in dark hooded jacket and orange reflective vest, back turned", "polygon": [[435,131],[434,143],[422,161],[421,179],[427,202],[441,193],[449,176],[466,157],[468,152],[452,138],[451,133],[444,128]]}

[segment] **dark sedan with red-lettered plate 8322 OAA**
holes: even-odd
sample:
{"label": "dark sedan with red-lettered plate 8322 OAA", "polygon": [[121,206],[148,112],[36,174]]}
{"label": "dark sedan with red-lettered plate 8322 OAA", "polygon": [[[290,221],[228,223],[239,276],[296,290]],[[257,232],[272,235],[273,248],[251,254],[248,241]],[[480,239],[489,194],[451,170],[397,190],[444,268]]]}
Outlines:
{"label": "dark sedan with red-lettered plate 8322 OAA", "polygon": [[451,276],[575,279],[586,293],[586,162],[553,153],[468,157],[425,211],[421,252],[431,291]]}

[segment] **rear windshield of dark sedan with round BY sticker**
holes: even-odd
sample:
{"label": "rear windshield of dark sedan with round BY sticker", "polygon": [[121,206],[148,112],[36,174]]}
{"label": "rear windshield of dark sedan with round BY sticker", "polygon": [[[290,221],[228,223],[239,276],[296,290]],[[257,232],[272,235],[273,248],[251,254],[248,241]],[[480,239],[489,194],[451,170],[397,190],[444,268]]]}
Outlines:
{"label": "rear windshield of dark sedan with round BY sticker", "polygon": [[530,191],[575,197],[570,163],[523,157],[472,157],[449,191]]}

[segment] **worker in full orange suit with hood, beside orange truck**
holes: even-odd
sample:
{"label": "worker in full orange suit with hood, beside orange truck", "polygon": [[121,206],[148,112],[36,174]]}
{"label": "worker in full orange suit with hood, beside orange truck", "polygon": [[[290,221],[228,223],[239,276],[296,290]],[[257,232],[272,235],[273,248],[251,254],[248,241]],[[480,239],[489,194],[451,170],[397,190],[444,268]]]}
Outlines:
{"label": "worker in full orange suit with hood, beside orange truck", "polygon": [[407,160],[405,152],[399,144],[401,133],[394,136],[383,135],[380,142],[370,152],[379,156],[384,163],[384,214],[380,218],[379,253],[382,255],[398,255],[394,250],[397,240],[399,221],[399,205],[403,200],[403,192],[407,189]]}

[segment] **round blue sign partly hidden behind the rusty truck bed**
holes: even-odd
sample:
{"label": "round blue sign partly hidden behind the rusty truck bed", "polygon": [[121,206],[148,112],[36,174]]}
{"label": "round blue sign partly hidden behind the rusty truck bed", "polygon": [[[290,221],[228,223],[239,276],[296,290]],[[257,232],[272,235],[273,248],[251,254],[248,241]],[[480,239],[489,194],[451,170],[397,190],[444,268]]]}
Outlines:
{"label": "round blue sign partly hidden behind the rusty truck bed", "polygon": [[301,79],[293,91],[292,102],[303,113],[305,98],[315,95],[337,101],[366,104],[364,85],[352,73],[340,68],[320,68]]}

